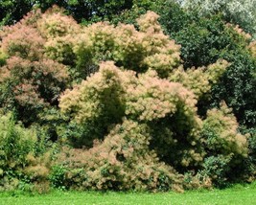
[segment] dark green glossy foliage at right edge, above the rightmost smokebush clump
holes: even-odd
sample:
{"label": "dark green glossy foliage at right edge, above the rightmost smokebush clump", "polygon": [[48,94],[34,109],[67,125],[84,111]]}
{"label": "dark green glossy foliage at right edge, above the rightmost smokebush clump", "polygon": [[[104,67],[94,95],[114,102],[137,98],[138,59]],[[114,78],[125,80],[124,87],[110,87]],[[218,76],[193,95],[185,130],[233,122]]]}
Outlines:
{"label": "dark green glossy foliage at right edge, above the rightmost smokebush clump", "polygon": [[219,103],[220,99],[224,100],[233,108],[241,125],[253,128],[256,125],[256,79],[253,77],[256,61],[243,51],[230,52],[225,58],[232,64],[222,76],[220,83],[213,86],[213,105]]}

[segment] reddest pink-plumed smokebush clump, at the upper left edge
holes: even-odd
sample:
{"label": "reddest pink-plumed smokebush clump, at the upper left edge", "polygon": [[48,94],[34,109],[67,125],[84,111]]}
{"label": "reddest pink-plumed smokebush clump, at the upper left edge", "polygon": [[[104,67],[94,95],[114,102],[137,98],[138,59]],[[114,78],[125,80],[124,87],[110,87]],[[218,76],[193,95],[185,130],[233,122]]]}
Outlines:
{"label": "reddest pink-plumed smokebush clump, at the upper left edge", "polygon": [[39,16],[39,12],[30,14],[4,27],[0,34],[5,57],[0,69],[1,106],[14,109],[26,125],[38,121],[37,115],[44,108],[58,104],[58,96],[69,80],[65,65],[44,56],[47,41],[35,26]]}

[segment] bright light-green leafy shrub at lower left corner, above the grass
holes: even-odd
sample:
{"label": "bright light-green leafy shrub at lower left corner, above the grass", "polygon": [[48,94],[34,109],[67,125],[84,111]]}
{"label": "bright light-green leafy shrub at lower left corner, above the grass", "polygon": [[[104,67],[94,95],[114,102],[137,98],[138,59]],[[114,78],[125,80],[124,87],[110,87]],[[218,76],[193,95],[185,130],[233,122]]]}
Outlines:
{"label": "bright light-green leafy shrub at lower left corner, above the grass", "polygon": [[[14,125],[13,115],[0,117],[0,191],[49,189],[51,156],[47,136],[35,127]],[[44,186],[42,186],[45,184]],[[42,187],[42,188],[41,188]]]}

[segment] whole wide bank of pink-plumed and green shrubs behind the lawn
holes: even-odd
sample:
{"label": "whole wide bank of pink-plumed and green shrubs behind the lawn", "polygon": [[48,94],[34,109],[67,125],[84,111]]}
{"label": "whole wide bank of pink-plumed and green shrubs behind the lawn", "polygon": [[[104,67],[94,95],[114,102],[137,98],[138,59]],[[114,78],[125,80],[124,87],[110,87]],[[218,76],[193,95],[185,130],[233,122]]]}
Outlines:
{"label": "whole wide bank of pink-plumed and green shrubs behind the lawn", "polygon": [[[221,100],[232,105],[244,129],[255,125],[255,98],[248,96],[255,67],[243,67],[255,63],[254,43],[215,17],[200,19],[200,27],[176,26],[180,48],[158,17],[148,11],[136,27],[81,26],[55,7],[3,28],[3,189],[24,182],[36,189],[51,183],[59,189],[182,191],[253,178],[254,129],[251,137],[242,135]],[[198,40],[191,44],[193,34]],[[242,72],[233,73],[240,65]],[[231,82],[237,86],[226,92]],[[10,111],[26,128],[14,124]],[[61,148],[48,148],[46,136]],[[252,169],[232,171],[244,163]]]}

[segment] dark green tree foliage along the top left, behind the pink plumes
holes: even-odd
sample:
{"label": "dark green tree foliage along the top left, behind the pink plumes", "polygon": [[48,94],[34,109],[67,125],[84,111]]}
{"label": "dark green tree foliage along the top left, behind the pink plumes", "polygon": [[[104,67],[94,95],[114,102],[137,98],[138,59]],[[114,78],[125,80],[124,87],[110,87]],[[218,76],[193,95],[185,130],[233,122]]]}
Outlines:
{"label": "dark green tree foliage along the top left, behind the pink plumes", "polygon": [[68,14],[72,15],[79,22],[92,22],[104,20],[105,18],[110,19],[111,16],[130,9],[133,2],[130,0],[22,0],[18,2],[4,0],[0,3],[0,25],[11,25],[33,9],[39,8],[42,11],[46,11],[54,5],[64,8]]}

